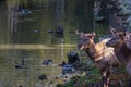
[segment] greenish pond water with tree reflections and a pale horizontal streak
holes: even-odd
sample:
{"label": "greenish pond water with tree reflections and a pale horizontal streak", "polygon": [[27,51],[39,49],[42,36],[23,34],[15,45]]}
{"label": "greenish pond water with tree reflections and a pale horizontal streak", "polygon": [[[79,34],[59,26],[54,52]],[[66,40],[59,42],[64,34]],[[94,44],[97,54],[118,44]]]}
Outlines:
{"label": "greenish pond water with tree reflections and a pale horizontal streak", "polygon": [[[56,65],[67,61],[68,52],[80,53],[75,29],[87,32],[83,15],[75,16],[76,4],[75,0],[0,1],[0,87],[49,87],[61,73]],[[53,66],[44,66],[45,59]],[[38,79],[43,74],[46,80]]]}

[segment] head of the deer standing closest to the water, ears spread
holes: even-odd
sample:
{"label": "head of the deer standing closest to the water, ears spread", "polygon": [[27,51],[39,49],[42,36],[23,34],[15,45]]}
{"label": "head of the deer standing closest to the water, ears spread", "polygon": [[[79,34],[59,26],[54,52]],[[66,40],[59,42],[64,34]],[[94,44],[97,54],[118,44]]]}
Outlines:
{"label": "head of the deer standing closest to the water, ears spread", "polygon": [[76,30],[75,34],[80,37],[80,41],[78,44],[78,48],[80,50],[87,49],[94,45],[95,32],[84,34]]}

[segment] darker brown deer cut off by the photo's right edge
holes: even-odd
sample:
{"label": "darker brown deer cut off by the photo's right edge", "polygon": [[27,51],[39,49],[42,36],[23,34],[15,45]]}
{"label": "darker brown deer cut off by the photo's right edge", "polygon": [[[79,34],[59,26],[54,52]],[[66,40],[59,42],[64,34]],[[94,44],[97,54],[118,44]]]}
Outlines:
{"label": "darker brown deer cut off by the photo's right edge", "polygon": [[126,32],[116,32],[110,29],[112,37],[106,42],[107,47],[112,47],[118,60],[127,69],[128,74],[131,76],[131,47],[129,47],[129,35]]}

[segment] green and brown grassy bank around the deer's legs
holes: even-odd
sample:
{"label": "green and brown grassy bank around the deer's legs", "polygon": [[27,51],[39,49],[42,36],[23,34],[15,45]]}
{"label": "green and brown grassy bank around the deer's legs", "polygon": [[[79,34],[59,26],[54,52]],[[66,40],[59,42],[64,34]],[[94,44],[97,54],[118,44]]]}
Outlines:
{"label": "green and brown grassy bank around the deer's legs", "polygon": [[[92,65],[87,65],[85,63],[82,63],[85,70],[86,74],[83,75],[74,75],[71,80],[69,80],[67,84],[62,84],[58,87],[91,87],[91,85],[95,84],[102,84],[102,77],[98,69],[92,63]],[[129,87],[127,82],[129,79],[129,75],[126,73],[123,67],[118,69],[116,73],[111,75],[111,84],[112,87],[116,87],[114,85],[118,84],[120,80],[123,84],[123,87]],[[74,83],[75,79],[75,83]]]}

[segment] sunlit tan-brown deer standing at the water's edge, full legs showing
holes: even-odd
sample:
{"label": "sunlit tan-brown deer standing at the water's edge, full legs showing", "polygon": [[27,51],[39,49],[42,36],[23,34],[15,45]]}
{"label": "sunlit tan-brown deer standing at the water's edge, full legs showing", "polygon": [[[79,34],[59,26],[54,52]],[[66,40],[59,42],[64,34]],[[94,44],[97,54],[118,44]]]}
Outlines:
{"label": "sunlit tan-brown deer standing at the water's edge, full legs showing", "polygon": [[111,74],[111,67],[120,65],[117,57],[114,53],[114,48],[106,47],[105,44],[108,39],[102,40],[97,44],[94,42],[95,33],[84,34],[81,32],[75,32],[80,37],[80,42],[78,48],[85,50],[90,59],[94,61],[95,65],[98,67],[102,79],[103,87],[109,87],[109,77]]}

